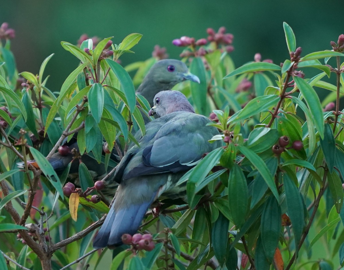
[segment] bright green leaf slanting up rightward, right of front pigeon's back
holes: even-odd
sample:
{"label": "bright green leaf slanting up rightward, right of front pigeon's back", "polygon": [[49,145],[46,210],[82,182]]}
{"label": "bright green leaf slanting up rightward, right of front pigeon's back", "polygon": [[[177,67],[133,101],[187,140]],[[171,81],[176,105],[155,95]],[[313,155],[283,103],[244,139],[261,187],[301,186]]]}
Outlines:
{"label": "bright green leaf slanting up rightward, right of front pigeon's back", "polygon": [[245,120],[257,113],[268,111],[273,106],[277,105],[278,100],[280,99],[279,95],[262,95],[250,100],[245,107],[233,114],[228,122],[236,123],[242,120]]}

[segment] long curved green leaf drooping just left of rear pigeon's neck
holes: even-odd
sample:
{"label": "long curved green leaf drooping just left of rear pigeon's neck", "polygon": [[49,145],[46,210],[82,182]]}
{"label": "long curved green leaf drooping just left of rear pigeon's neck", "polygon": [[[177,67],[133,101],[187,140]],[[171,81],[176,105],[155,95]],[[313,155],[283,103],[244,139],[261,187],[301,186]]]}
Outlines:
{"label": "long curved green leaf drooping just left of rear pigeon's neck", "polygon": [[118,78],[121,84],[121,89],[127,98],[129,110],[130,112],[133,112],[136,107],[136,95],[134,85],[131,81],[128,72],[120,64],[116,63],[111,59],[105,59],[105,61],[110,66],[111,70],[114,71],[116,77]]}

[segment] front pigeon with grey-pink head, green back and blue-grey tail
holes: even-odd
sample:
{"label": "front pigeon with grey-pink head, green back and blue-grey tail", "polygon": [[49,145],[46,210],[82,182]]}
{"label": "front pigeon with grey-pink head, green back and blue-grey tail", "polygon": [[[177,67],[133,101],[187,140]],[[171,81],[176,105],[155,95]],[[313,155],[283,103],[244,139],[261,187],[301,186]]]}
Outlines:
{"label": "front pigeon with grey-pink head, green back and blue-grey tail", "polygon": [[161,195],[171,199],[185,196],[185,185],[176,182],[193,168],[205,153],[222,144],[209,143],[219,132],[207,126],[210,120],[196,114],[184,94],[161,91],[154,97],[149,115],[157,119],[146,124],[146,133],[138,131],[133,145],[115,172],[119,183],[114,203],[96,235],[94,248],[121,244],[125,233],[137,232],[148,207]]}

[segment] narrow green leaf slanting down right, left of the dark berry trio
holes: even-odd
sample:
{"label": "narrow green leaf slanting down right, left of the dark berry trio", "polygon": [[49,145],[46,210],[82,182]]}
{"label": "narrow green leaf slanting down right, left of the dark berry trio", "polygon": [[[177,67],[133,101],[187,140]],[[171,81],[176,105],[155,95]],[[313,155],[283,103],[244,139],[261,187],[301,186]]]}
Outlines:
{"label": "narrow green leaf slanting down right, left of the dark berry trio", "polygon": [[277,202],[279,202],[279,194],[276,188],[275,180],[273,179],[273,176],[271,175],[270,170],[266,166],[264,160],[262,160],[256,153],[254,153],[252,150],[238,145],[238,149],[241,153],[245,155],[245,157],[252,163],[252,165],[259,171],[261,176],[264,178],[265,182],[267,183],[269,189],[273,193],[273,195],[276,197]]}

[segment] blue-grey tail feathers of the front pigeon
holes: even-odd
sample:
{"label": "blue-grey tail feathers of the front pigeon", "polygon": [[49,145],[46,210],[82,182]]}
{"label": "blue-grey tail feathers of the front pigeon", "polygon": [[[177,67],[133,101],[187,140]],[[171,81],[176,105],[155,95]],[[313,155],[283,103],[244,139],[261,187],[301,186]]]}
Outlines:
{"label": "blue-grey tail feathers of the front pigeon", "polygon": [[104,224],[93,241],[93,247],[103,248],[108,246],[109,248],[114,248],[121,245],[123,234],[133,235],[137,232],[143,216],[151,204],[152,200],[140,204],[126,205],[116,211],[114,208],[116,205],[115,200],[105,218]]}

